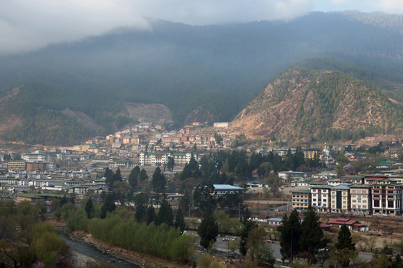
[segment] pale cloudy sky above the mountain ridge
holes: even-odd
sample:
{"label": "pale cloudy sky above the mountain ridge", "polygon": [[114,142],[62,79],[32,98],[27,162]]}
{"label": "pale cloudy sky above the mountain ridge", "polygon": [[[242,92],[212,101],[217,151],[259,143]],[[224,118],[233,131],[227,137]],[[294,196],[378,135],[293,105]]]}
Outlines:
{"label": "pale cloudy sky above the mountain ridge", "polygon": [[116,27],[150,30],[142,16],[191,25],[291,19],[310,11],[403,13],[403,0],[2,0],[0,54],[77,41]]}

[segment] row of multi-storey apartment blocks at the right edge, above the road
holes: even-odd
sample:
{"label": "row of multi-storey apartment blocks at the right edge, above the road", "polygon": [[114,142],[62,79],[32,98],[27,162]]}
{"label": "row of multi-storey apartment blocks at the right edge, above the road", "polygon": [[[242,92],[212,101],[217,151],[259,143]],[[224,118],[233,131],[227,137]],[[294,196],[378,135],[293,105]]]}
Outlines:
{"label": "row of multi-storey apartment blocks at the right edge, above the road", "polygon": [[292,186],[292,207],[304,211],[308,205],[319,212],[359,215],[401,215],[403,170],[382,174],[351,174],[340,179],[318,174],[317,180],[301,177]]}

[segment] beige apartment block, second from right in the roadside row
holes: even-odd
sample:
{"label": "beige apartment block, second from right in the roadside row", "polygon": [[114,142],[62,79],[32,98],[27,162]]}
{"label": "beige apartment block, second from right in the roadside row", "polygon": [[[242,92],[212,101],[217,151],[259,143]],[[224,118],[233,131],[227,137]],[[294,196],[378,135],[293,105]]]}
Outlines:
{"label": "beige apartment block, second from right in the roadside row", "polygon": [[370,184],[350,186],[351,211],[360,215],[372,214],[372,188]]}

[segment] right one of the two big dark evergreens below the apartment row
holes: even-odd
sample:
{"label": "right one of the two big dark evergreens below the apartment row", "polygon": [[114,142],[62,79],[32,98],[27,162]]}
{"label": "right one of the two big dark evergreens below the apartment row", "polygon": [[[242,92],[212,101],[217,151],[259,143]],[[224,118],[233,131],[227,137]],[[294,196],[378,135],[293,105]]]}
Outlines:
{"label": "right one of the two big dark evergreens below the apartment row", "polygon": [[303,255],[309,264],[316,263],[316,254],[322,248],[326,248],[330,239],[323,235],[322,228],[320,228],[320,221],[318,213],[309,205],[308,210],[305,212],[305,219],[301,224],[301,236],[299,239],[299,247],[301,255]]}

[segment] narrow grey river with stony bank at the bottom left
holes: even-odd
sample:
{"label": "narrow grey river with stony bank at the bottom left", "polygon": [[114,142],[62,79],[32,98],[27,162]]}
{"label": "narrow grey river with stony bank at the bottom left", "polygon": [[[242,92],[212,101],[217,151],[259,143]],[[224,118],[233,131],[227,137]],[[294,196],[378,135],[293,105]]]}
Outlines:
{"label": "narrow grey river with stony bank at the bottom left", "polygon": [[93,259],[104,259],[106,262],[114,262],[118,268],[139,268],[135,264],[102,252],[91,243],[72,240],[69,234],[64,231],[58,231],[58,237],[63,239],[70,246],[71,250],[73,250],[71,255],[73,255],[73,263],[77,268],[85,268],[87,260]]}

